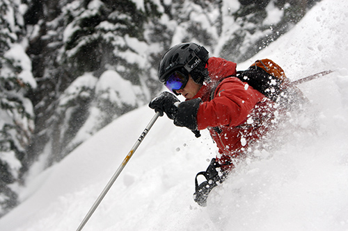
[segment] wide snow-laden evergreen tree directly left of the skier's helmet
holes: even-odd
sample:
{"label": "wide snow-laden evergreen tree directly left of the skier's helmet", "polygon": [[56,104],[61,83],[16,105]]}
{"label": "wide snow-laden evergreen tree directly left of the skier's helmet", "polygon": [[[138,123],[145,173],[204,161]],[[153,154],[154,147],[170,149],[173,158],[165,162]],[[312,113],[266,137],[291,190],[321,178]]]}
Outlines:
{"label": "wide snow-laden evergreen tree directly left of the skier's helmet", "polygon": [[[30,152],[48,151],[48,164],[52,164],[116,117],[147,103],[157,91],[159,83],[148,56],[156,57],[162,50],[152,51],[145,29],[151,30],[149,22],[159,12],[150,0],[144,1],[143,6],[130,0],[57,1],[61,7],[53,10],[56,17],[42,22],[48,17],[45,12],[36,19],[32,18],[36,16],[33,11],[49,6],[43,2],[37,8],[39,3],[33,3],[26,14],[26,22],[40,28],[38,39],[31,40],[29,49],[37,62],[34,73],[39,85],[31,94],[37,119],[35,145]],[[118,98],[122,95],[110,87],[95,89],[102,83],[80,87],[81,92],[74,93],[74,99],[68,96],[68,87],[75,80],[82,83],[80,79],[87,73],[99,79],[109,70],[114,71],[115,78],[121,76],[131,83],[132,103],[127,99],[116,103],[107,98],[108,92]],[[62,103],[67,97],[71,100]],[[86,121],[88,125],[95,124],[87,128]]]}

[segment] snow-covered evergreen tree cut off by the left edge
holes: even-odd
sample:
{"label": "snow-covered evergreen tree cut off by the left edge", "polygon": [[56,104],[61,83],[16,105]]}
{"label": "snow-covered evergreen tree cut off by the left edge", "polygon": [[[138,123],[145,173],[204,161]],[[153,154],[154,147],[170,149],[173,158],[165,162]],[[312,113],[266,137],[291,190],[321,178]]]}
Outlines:
{"label": "snow-covered evergreen tree cut off by the left edge", "polygon": [[10,185],[27,167],[34,114],[26,93],[36,87],[24,48],[24,5],[0,2],[0,216],[17,204]]}

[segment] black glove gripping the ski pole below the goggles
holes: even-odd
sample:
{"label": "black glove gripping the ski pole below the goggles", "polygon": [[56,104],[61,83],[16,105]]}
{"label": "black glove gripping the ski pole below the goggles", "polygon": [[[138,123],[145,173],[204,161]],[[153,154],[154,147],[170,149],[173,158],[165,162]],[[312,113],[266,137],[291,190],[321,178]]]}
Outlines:
{"label": "black glove gripping the ski pole below the goggles", "polygon": [[162,92],[156,96],[149,103],[149,107],[155,109],[155,112],[159,112],[160,116],[163,116],[164,112],[169,119],[175,119],[177,113],[177,106],[174,103],[180,102],[174,94],[169,92]]}

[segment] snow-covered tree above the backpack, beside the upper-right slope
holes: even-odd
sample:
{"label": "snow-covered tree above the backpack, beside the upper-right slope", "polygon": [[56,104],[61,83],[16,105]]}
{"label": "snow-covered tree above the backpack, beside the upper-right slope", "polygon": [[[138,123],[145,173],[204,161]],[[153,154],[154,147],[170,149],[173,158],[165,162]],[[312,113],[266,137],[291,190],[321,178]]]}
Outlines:
{"label": "snow-covered tree above the backpack, beside the upper-right slope", "polygon": [[[318,0],[239,0],[234,24],[223,31],[221,57],[243,62],[289,31]],[[232,6],[228,4],[228,9]]]}

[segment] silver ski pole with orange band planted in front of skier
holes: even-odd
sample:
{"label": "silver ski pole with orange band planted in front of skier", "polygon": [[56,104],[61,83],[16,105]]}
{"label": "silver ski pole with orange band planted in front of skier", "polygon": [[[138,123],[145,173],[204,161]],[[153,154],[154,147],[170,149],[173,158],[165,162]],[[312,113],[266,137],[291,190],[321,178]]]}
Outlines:
{"label": "silver ski pole with orange band planted in front of skier", "polygon": [[86,214],[84,220],[81,222],[81,224],[79,225],[79,228],[77,228],[77,231],[82,230],[82,228],[84,228],[84,225],[86,225],[88,219],[90,219],[90,216],[92,216],[93,212],[95,212],[95,209],[97,209],[98,205],[100,204],[100,202],[102,202],[102,199],[104,198],[104,196],[106,195],[106,193],[109,191],[109,189],[111,188],[111,186],[113,185],[113,182],[115,182],[115,180],[118,178],[118,176],[120,175],[122,169],[125,168],[125,165],[127,164],[127,162],[129,161],[129,159],[132,157],[132,155],[134,154],[134,152],[136,151],[136,148],[139,147],[139,145],[141,144],[141,142],[143,141],[143,139],[145,138],[145,135],[148,134],[148,131],[150,130],[150,128],[152,127],[152,125],[155,123],[155,121],[157,120],[157,118],[159,117],[159,112],[156,112],[155,116],[152,117],[150,123],[148,123],[148,126],[146,126],[145,130],[143,131],[143,133],[141,133],[139,139],[135,142],[134,146],[132,147],[131,151],[129,151],[129,153],[127,154],[127,156],[125,157],[125,160],[123,160],[122,164],[120,164],[120,166],[118,167],[118,169],[116,170],[116,172],[113,174],[111,180],[109,180],[109,182],[107,183],[106,187],[104,188],[104,190],[102,191],[102,193],[100,194],[100,196],[97,198],[97,200],[95,200],[95,203],[93,204],[93,206],[90,208],[90,210],[88,211],[88,213]]}

